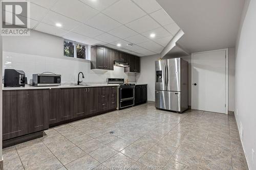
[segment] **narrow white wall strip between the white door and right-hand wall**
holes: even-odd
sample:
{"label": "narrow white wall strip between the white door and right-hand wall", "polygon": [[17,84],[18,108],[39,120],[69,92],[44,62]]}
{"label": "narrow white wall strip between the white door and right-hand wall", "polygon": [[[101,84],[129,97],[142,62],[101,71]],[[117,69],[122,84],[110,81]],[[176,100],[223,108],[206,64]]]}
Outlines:
{"label": "narrow white wall strip between the white door and right-hand wall", "polygon": [[235,49],[228,48],[228,110],[234,111],[234,53]]}

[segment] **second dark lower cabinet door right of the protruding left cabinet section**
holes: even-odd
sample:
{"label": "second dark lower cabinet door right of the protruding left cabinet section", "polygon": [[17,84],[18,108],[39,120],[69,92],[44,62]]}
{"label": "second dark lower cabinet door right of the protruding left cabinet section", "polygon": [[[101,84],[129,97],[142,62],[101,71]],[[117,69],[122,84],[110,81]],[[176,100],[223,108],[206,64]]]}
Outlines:
{"label": "second dark lower cabinet door right of the protruding left cabinet section", "polygon": [[73,118],[73,89],[62,88],[57,95],[57,114],[61,121]]}

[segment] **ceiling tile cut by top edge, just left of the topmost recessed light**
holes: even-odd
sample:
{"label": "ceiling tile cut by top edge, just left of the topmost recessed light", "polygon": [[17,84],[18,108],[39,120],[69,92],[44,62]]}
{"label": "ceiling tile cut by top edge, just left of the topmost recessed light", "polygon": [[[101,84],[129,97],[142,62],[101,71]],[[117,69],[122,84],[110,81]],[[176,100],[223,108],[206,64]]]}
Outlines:
{"label": "ceiling tile cut by top edge, just left of the topmost recessed light", "polygon": [[52,10],[80,22],[86,22],[98,13],[97,10],[77,0],[58,1]]}

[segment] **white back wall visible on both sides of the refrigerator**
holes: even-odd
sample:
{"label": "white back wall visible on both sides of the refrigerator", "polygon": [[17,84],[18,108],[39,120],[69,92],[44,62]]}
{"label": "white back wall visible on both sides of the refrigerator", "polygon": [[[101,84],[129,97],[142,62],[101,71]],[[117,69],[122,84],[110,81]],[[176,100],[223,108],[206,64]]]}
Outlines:
{"label": "white back wall visible on both sides of the refrigerator", "polygon": [[[161,58],[159,55],[144,56],[140,58],[140,74],[136,75],[137,83],[147,84],[147,100],[155,101],[155,61]],[[171,58],[171,57],[170,57]],[[190,106],[191,94],[191,56],[181,57],[188,61],[188,105]]]}

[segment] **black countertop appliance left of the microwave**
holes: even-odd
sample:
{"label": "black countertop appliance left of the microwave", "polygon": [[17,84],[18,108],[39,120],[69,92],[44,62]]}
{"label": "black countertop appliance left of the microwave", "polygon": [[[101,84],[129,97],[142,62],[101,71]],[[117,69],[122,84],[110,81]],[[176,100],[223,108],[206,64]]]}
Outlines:
{"label": "black countertop appliance left of the microwave", "polygon": [[5,69],[4,87],[25,87],[27,78],[25,72],[17,69]]}

